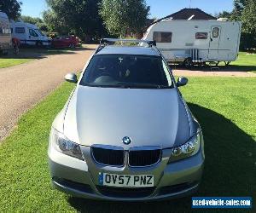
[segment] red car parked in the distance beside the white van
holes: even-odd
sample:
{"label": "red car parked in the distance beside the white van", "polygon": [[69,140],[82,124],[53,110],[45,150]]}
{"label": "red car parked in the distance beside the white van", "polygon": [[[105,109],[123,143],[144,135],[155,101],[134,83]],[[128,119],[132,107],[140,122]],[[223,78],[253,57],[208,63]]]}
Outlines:
{"label": "red car parked in the distance beside the white van", "polygon": [[79,45],[79,38],[75,36],[58,36],[52,42],[54,48],[75,48]]}

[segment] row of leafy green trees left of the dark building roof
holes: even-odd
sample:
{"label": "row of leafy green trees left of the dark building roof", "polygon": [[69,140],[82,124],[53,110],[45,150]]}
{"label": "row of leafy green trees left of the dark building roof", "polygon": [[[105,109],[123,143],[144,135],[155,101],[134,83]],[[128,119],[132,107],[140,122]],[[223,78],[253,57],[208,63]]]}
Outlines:
{"label": "row of leafy green trees left of the dark building roof", "polygon": [[141,33],[147,25],[150,8],[145,0],[46,0],[43,19],[20,16],[21,2],[4,0],[0,9],[10,19],[36,24],[44,32],[86,37],[112,35],[125,37]]}

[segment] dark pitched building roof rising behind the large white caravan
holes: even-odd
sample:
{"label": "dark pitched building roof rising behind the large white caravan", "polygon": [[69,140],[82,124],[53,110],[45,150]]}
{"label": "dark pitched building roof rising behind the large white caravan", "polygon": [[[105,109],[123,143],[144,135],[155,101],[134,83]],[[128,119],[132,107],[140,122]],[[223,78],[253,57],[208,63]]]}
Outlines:
{"label": "dark pitched building roof rising behind the large white caravan", "polygon": [[[161,20],[217,20],[212,14],[207,14],[201,9],[181,9],[174,14],[169,14],[160,20],[154,21],[154,23],[159,22]],[[154,24],[153,23],[153,24]]]}

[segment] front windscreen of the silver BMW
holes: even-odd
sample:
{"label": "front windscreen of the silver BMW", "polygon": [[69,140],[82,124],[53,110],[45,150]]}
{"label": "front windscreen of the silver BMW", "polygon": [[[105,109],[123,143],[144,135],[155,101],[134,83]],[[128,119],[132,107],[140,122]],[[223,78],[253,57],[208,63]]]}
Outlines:
{"label": "front windscreen of the silver BMW", "polygon": [[95,55],[80,85],[166,89],[172,87],[172,78],[160,56]]}

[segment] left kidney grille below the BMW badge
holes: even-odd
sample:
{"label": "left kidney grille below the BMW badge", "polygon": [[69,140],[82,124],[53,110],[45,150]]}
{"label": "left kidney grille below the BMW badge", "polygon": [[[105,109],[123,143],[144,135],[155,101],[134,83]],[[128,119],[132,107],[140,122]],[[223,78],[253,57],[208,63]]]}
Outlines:
{"label": "left kidney grille below the BMW badge", "polygon": [[122,149],[108,149],[102,147],[91,147],[91,153],[96,163],[122,166],[124,165],[125,152]]}

